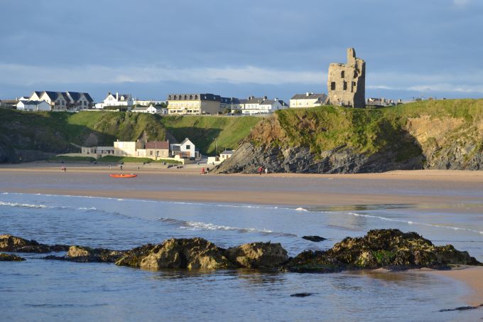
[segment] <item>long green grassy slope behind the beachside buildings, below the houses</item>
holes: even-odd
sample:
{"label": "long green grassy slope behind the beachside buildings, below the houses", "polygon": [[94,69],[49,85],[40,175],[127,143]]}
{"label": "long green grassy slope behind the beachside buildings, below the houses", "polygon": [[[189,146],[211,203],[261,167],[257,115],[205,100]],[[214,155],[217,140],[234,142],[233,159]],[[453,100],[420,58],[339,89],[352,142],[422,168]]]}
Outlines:
{"label": "long green grassy slope behind the beachside buildings, below the houses", "polygon": [[[146,132],[149,140],[164,140],[172,134],[190,138],[203,154],[237,148],[257,117],[161,117],[130,112],[20,112],[0,109],[0,141],[21,150],[65,153],[82,146],[112,146],[116,139],[134,141]],[[169,133],[168,133],[169,132]]]}

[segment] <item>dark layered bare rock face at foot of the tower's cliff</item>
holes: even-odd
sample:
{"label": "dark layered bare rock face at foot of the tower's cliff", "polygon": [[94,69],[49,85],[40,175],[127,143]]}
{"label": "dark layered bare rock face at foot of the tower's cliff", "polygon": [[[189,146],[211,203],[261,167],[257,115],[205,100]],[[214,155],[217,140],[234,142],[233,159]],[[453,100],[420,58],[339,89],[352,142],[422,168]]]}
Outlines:
{"label": "dark layered bare rock face at foot of the tower's cliff", "polygon": [[256,146],[242,143],[233,156],[221,163],[214,173],[256,173],[262,166],[270,173],[372,173],[423,168],[423,156],[398,161],[395,151],[379,154],[355,154],[347,146],[323,151],[321,157],[305,147]]}

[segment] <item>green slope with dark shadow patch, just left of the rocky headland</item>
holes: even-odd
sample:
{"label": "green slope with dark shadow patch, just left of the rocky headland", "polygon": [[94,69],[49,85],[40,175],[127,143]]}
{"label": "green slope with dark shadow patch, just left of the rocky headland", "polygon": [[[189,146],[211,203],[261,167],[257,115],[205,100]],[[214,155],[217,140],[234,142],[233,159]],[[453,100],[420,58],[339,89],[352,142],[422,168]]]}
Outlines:
{"label": "green slope with dark shadow patch, just left of the rocky headland", "polygon": [[[178,141],[189,138],[202,154],[237,149],[239,141],[261,121],[260,117],[167,116],[161,122]],[[215,141],[216,139],[216,141]]]}

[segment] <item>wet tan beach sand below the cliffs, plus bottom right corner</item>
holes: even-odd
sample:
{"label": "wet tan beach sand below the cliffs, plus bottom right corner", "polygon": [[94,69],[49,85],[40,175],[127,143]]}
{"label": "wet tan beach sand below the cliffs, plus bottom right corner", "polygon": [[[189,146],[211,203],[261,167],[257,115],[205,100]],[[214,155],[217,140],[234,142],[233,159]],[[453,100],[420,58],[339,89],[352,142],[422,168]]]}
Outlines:
{"label": "wet tan beach sand below the cliffs, plus bottom right corner", "polygon": [[[60,166],[67,166],[67,172]],[[138,169],[139,167],[139,169]],[[119,167],[53,163],[0,166],[0,193],[48,193],[113,198],[250,203],[294,207],[356,207],[411,204],[441,212],[483,213],[483,171],[391,171],[367,174],[200,175],[202,166],[166,168],[129,163]],[[26,188],[28,187],[28,188]],[[474,204],[473,204],[474,203]],[[471,206],[469,206],[471,205]],[[483,304],[483,267],[428,271],[457,279],[474,290],[469,305]],[[429,274],[429,273],[428,273]]]}

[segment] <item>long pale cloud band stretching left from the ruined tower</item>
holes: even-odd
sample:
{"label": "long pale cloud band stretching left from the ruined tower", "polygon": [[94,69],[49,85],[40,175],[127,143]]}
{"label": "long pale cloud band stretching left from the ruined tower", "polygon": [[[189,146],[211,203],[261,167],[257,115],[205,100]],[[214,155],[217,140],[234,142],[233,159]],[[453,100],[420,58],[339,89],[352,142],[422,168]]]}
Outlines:
{"label": "long pale cloud band stretching left from the ruined tower", "polygon": [[50,68],[30,65],[0,64],[0,83],[9,85],[109,84],[120,82],[190,82],[281,85],[325,82],[327,74],[312,71],[287,71],[244,66],[238,68],[161,68],[158,66],[112,68],[87,65],[74,68]]}

